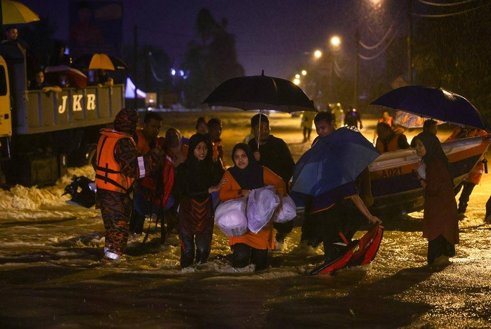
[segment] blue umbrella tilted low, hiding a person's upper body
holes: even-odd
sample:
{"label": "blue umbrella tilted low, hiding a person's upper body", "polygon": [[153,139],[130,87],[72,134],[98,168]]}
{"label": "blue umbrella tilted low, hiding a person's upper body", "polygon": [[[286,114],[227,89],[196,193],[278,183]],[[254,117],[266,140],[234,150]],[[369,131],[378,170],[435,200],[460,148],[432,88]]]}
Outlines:
{"label": "blue umbrella tilted low, hiding a person's upper body", "polygon": [[295,165],[292,198],[303,206],[314,198],[312,211],[319,211],[356,193],[353,182],[379,151],[350,128],[340,128],[320,137]]}

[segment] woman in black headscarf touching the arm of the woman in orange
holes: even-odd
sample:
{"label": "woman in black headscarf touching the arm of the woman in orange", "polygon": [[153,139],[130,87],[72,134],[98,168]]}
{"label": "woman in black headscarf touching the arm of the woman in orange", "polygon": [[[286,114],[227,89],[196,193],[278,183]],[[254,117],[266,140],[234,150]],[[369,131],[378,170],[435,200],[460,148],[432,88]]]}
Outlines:
{"label": "woman in black headscarf touching the arm of the woman in orange", "polygon": [[[179,239],[181,240],[181,267],[194,261],[204,263],[210,254],[215,218],[212,192],[217,192],[226,179],[223,169],[211,158],[211,143],[201,134],[191,136],[188,157],[177,167],[174,186],[180,195]],[[196,244],[196,252],[194,250]]]}

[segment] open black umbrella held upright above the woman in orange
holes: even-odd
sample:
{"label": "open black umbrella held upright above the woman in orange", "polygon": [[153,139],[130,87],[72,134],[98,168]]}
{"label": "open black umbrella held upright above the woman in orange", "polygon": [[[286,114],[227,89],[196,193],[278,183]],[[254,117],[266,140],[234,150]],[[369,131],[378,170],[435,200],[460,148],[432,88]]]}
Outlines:
{"label": "open black umbrella held upright above the woman in orange", "polygon": [[295,83],[274,77],[237,77],[222,82],[203,104],[242,110],[314,111],[314,102]]}

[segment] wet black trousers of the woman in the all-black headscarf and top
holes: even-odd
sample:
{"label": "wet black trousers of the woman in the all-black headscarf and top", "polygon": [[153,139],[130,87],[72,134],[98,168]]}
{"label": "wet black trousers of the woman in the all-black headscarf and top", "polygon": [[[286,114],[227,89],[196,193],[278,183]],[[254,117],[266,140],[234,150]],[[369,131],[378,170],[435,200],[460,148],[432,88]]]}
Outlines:
{"label": "wet black trousers of the woman in the all-black headscarf and top", "polygon": [[192,265],[194,261],[194,244],[196,244],[196,263],[205,263],[210,255],[212,245],[211,233],[179,234],[181,240],[181,267]]}

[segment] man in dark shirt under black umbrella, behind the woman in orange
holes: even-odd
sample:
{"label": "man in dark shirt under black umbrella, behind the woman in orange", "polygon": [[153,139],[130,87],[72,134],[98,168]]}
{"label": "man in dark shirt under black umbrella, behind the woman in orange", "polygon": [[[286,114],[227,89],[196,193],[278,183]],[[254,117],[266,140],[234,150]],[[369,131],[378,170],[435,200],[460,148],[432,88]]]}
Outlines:
{"label": "man in dark shirt under black umbrella, behind the woman in orange", "polygon": [[[259,116],[261,115],[261,124]],[[276,175],[280,176],[288,187],[288,182],[293,175],[292,153],[281,138],[270,135],[270,121],[264,114],[256,114],[250,119],[250,126],[254,133],[254,138],[249,140],[249,147],[254,154],[254,158],[259,164],[271,169]],[[259,149],[258,149],[259,140]],[[276,242],[282,244],[285,237],[293,229],[293,220],[287,223],[274,223],[276,229]]]}

